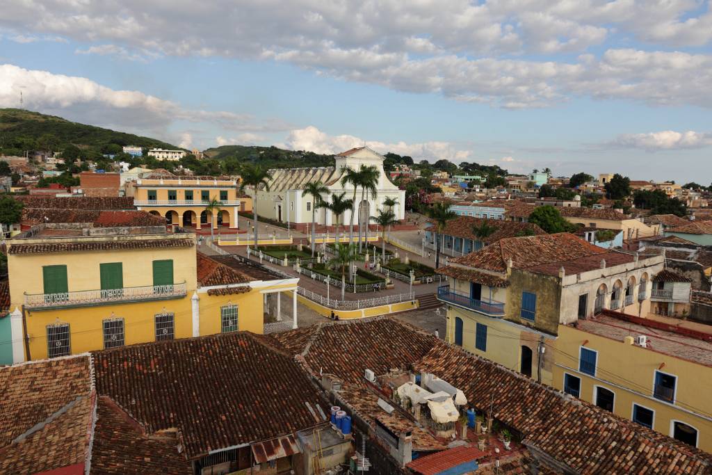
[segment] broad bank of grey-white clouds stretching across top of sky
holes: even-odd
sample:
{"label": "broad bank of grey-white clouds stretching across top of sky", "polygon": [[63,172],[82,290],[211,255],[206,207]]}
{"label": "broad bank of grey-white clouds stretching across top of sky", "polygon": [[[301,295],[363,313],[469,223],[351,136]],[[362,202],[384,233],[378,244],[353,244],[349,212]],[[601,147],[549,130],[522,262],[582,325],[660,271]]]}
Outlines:
{"label": "broad bank of grey-white clouds stretching across top of sky", "polygon": [[696,0],[6,0],[0,28],[94,45],[80,53],[281,61],[509,109],[578,96],[712,107],[712,56],[676,51],[712,41]]}

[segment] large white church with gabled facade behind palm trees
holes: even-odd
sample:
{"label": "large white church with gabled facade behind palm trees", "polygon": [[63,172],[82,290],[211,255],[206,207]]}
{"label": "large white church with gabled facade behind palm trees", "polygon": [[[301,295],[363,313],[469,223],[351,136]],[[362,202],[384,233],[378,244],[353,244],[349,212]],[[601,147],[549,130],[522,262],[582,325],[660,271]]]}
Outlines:
{"label": "large white church with gabled facade behind palm trees", "polygon": [[[351,184],[345,187],[341,184],[344,169],[359,169],[361,165],[375,166],[379,171],[377,194],[369,196],[360,205],[361,216],[376,216],[379,209],[384,209],[384,199],[397,199],[398,204],[393,208],[396,219],[405,218],[405,191],[399,189],[388,179],[383,169],[384,157],[371,150],[369,147],[358,147],[347,150],[335,156],[335,167],[315,168],[288,168],[271,169],[272,178],[269,181],[269,191],[258,189],[257,214],[266,218],[276,219],[290,223],[295,228],[304,228],[312,220],[313,198],[304,194],[305,184],[320,181],[329,189],[323,195],[324,201],[331,201],[331,194],[346,192],[345,199],[352,199],[354,189]],[[357,202],[361,201],[361,190],[356,194]],[[339,217],[340,226],[348,226],[351,212]],[[358,224],[357,216],[354,218],[354,227]],[[326,226],[336,226],[336,216],[329,209],[319,208],[316,212],[316,223]],[[342,228],[343,229],[343,228]]]}

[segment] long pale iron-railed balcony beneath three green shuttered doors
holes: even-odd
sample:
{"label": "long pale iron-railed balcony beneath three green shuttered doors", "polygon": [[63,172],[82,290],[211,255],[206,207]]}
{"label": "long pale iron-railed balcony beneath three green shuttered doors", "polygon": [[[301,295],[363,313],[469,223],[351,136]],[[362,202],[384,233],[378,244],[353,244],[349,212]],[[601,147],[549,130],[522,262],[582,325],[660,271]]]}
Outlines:
{"label": "long pale iron-railed balcony beneath three green shuttered doors", "polygon": [[25,294],[25,307],[31,310],[48,310],[51,308],[110,305],[181,298],[186,294],[185,283],[65,293],[34,293]]}

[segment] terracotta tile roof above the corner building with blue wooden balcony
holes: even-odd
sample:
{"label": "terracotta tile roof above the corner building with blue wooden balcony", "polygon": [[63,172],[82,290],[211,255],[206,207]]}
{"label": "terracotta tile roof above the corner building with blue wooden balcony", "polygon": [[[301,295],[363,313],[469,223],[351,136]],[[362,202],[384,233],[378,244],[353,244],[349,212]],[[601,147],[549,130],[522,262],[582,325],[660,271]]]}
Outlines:
{"label": "terracotta tile roof above the corner building with blue wooden balcony", "polygon": [[607,253],[609,251],[606,249],[590,244],[573,234],[559,233],[501,239],[479,251],[450,261],[488,271],[504,272],[507,270],[507,260],[510,258],[514,267],[529,268]]}

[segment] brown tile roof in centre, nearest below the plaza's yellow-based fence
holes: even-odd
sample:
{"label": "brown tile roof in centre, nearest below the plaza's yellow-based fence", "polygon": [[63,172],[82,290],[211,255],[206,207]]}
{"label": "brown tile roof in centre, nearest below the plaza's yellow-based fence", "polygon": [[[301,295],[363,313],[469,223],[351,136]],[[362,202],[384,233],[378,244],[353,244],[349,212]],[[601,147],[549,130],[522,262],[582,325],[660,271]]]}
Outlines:
{"label": "brown tile roof in centre, nearest below the plaza's yellow-based fence", "polygon": [[[313,374],[322,370],[345,382],[361,382],[365,369],[383,375],[392,368],[407,366],[432,346],[430,335],[404,333],[402,324],[388,318],[371,320],[368,325],[350,320],[320,323],[303,348],[289,343],[292,333],[277,333],[273,338],[288,346],[290,353],[301,355]],[[297,335],[305,340],[304,333]]]}

